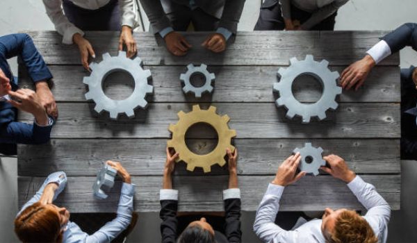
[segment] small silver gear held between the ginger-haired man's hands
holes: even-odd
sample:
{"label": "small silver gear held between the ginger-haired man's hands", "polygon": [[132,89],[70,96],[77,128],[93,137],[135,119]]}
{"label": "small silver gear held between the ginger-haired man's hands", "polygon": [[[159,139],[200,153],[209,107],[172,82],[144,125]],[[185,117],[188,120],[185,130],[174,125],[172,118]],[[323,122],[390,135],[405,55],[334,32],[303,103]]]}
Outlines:
{"label": "small silver gear held between the ginger-haired man's hands", "polygon": [[[300,152],[301,160],[298,165],[300,171],[306,171],[306,173],[317,176],[319,174],[318,169],[320,169],[320,166],[326,165],[325,160],[322,158],[323,149],[320,146],[318,148],[311,146],[310,142],[306,142],[301,149],[295,148],[293,152]],[[307,157],[311,159],[310,163],[306,162]]]}

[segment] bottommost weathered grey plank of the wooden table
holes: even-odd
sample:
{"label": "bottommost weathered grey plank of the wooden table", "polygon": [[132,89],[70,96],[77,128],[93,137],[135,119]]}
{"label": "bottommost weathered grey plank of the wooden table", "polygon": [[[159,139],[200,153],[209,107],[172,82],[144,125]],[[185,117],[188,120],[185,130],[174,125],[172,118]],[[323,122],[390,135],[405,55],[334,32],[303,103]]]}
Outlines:
{"label": "bottommost weathered grey plank of the wooden table", "polygon": [[[179,211],[222,211],[222,190],[227,188],[228,176],[174,176],[174,188],[179,190]],[[393,210],[400,209],[400,175],[366,175],[364,181],[377,188]],[[240,176],[242,210],[254,211],[261,202],[273,176]],[[44,178],[19,178],[19,207],[35,194]],[[120,183],[106,200],[93,199],[95,177],[69,177],[67,188],[58,196],[56,204],[71,212],[115,212],[119,201]],[[135,176],[135,210],[160,210],[161,176]],[[329,208],[363,209],[356,197],[342,181],[331,176],[308,176],[284,190],[280,210],[324,210]]]}

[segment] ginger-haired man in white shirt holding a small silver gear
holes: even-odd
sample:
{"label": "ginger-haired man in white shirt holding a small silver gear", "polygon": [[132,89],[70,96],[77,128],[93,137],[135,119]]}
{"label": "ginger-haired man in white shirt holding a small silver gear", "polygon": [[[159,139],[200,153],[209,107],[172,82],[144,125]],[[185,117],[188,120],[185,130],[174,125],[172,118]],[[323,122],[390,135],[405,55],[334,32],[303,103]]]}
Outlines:
{"label": "ginger-haired man in white shirt holding a small silver gear", "polygon": [[347,187],[368,210],[366,215],[361,216],[354,210],[345,208],[326,208],[322,219],[313,219],[291,231],[275,224],[284,188],[305,175],[303,171],[297,173],[300,159],[300,153],[296,153],[279,166],[274,181],[268,186],[259,204],[254,231],[263,242],[386,242],[391,217],[389,204],[373,185],[365,183],[354,174],[343,158],[334,155],[324,157],[330,167],[321,169],[347,183]]}

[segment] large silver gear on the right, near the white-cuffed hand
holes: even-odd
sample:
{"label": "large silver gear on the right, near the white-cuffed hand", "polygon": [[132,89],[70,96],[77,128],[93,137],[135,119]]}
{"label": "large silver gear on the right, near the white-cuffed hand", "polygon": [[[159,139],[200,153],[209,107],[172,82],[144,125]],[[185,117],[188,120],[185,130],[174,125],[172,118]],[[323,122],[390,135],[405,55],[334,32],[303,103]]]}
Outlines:
{"label": "large silver gear on the right, near the white-cuffed hand", "polygon": [[[327,60],[317,62],[311,55],[307,55],[305,60],[291,58],[290,62],[290,67],[286,69],[281,67],[278,70],[278,76],[281,79],[278,83],[274,83],[274,91],[279,92],[279,99],[275,103],[277,106],[286,107],[286,117],[289,119],[295,115],[302,117],[303,123],[309,123],[311,117],[325,119],[327,110],[336,110],[338,107],[335,99],[342,92],[342,88],[337,85],[336,81],[339,77],[338,72],[329,70]],[[294,97],[293,82],[302,74],[311,75],[322,83],[322,96],[316,103],[301,103]]]}

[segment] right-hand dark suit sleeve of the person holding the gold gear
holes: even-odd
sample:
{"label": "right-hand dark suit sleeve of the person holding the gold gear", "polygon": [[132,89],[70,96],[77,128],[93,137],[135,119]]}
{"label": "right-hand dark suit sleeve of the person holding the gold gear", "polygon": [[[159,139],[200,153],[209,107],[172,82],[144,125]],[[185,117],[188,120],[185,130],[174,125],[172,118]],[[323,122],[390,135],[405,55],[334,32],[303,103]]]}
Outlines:
{"label": "right-hand dark suit sleeve of the person holding the gold gear", "polygon": [[226,225],[224,233],[229,242],[240,242],[242,231],[240,231],[240,199],[224,200],[224,212]]}

